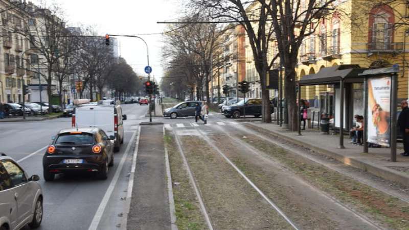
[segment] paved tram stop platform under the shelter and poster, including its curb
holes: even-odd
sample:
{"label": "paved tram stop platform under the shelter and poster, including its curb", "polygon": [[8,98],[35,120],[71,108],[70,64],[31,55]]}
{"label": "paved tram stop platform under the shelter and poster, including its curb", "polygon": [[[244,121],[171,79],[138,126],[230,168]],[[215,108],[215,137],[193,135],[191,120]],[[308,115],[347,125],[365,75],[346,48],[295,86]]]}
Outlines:
{"label": "paved tram stop platform under the shelter and poster, including its curb", "polygon": [[409,157],[402,157],[402,143],[397,145],[397,162],[390,161],[390,148],[369,148],[369,153],[362,152],[362,146],[350,144],[347,136],[344,139],[345,149],[339,149],[338,135],[323,135],[317,130],[302,131],[302,136],[297,132],[283,130],[277,124],[259,122],[249,123],[259,127],[272,135],[291,143],[306,147],[323,155],[328,155],[336,160],[365,171],[368,171],[385,180],[409,186]]}

